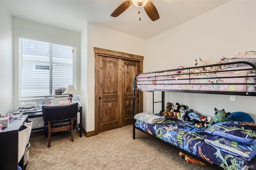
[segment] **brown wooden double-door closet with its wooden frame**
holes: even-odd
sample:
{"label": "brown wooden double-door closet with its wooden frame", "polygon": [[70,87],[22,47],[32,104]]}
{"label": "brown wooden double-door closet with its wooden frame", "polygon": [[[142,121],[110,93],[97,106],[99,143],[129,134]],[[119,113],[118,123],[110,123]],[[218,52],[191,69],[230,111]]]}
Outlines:
{"label": "brown wooden double-door closet with its wooden frame", "polygon": [[[131,125],[133,79],[143,72],[143,56],[94,47],[95,134]],[[142,92],[136,92],[136,109],[143,110]]]}

